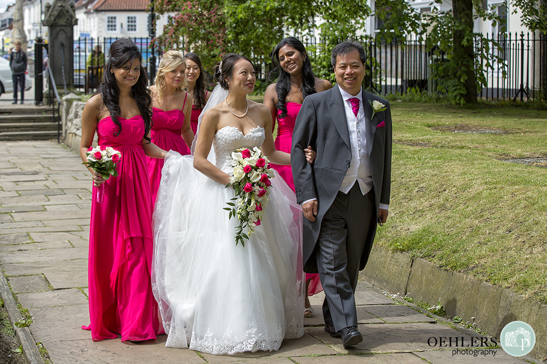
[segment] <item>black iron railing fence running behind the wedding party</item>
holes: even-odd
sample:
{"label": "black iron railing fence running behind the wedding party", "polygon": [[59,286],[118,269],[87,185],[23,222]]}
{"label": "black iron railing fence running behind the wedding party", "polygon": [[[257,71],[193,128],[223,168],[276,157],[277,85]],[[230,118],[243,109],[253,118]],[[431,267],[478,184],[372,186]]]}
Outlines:
{"label": "black iron railing fence running behind the wedding party", "polygon": [[[74,85],[80,90],[91,92],[97,86],[102,70],[97,64],[86,67],[86,60],[96,45],[101,45],[108,60],[110,44],[117,38],[80,38],[74,40]],[[131,38],[143,54],[143,67],[149,69],[150,38]],[[547,38],[536,33],[487,34],[486,42],[490,52],[495,52],[503,61],[494,63],[493,68],[484,67],[482,73],[486,84],[478,96],[483,99],[545,99],[547,96]],[[407,37],[403,42],[381,43],[360,39],[365,46],[369,71],[366,86],[374,92],[406,93],[417,88],[420,91],[435,92],[436,81],[432,78],[434,62],[444,62],[443,54],[437,56],[427,51],[425,42],[416,37]],[[330,49],[318,38],[302,39],[312,59],[318,59]],[[483,49],[483,40],[476,40],[475,49]],[[501,50],[498,50],[499,44]],[[161,58],[163,50],[156,50]],[[93,57],[92,61],[93,61]],[[270,64],[255,62],[257,78],[266,81]],[[157,64],[157,61],[156,61]],[[483,61],[481,64],[485,65]]]}

